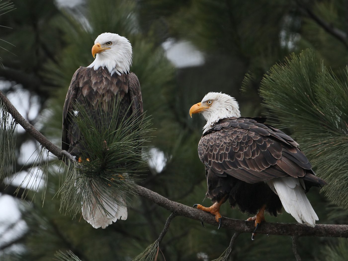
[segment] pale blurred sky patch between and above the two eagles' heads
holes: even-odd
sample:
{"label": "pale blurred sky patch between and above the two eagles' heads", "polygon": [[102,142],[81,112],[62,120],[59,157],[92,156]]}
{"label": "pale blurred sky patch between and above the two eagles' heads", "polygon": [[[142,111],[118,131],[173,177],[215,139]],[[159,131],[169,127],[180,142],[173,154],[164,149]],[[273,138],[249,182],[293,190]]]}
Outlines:
{"label": "pale blurred sky patch between and above the two eagles' heads", "polygon": [[189,41],[175,41],[173,38],[168,38],[162,47],[166,51],[168,60],[177,68],[199,66],[205,62],[203,53]]}

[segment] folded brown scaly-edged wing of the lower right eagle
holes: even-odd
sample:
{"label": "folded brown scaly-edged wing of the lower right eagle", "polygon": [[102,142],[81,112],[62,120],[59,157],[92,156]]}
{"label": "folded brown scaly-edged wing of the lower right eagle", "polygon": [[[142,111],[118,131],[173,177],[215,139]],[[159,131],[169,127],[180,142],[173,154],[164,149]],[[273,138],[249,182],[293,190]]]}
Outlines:
{"label": "folded brown scaly-edged wing of the lower right eagle", "polygon": [[252,118],[230,118],[202,136],[198,154],[216,175],[231,175],[247,183],[304,177],[306,173],[313,181],[311,164],[297,146],[290,136],[272,126]]}

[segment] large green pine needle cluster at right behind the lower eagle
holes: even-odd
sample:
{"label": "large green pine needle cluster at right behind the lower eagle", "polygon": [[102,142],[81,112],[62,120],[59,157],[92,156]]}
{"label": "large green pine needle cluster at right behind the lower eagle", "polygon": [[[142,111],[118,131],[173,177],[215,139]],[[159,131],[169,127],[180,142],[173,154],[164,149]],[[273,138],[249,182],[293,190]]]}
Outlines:
{"label": "large green pine needle cluster at right behind the lower eagle", "polygon": [[336,77],[304,50],[272,66],[260,93],[280,124],[293,131],[317,175],[330,184],[326,195],[348,209],[348,69],[344,74],[345,79]]}

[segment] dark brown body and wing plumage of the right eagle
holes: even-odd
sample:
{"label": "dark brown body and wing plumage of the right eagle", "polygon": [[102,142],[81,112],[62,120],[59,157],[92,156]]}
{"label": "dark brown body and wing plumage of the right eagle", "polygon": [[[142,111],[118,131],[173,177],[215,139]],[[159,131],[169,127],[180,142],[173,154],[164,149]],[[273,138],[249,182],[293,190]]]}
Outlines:
{"label": "dark brown body and wing plumage of the right eagle", "polygon": [[[198,155],[206,166],[207,197],[213,202],[228,195],[231,206],[256,214],[277,215],[282,203],[267,181],[292,176],[304,182],[306,190],[325,182],[298,144],[280,130],[265,125],[265,118],[227,118],[207,130],[198,144]],[[265,183],[266,182],[266,183]]]}

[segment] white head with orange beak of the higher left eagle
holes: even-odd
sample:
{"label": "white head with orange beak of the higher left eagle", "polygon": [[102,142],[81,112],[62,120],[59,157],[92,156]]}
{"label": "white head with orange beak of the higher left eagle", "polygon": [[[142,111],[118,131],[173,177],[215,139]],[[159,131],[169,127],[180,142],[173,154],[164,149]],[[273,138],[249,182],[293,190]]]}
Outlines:
{"label": "white head with orange beak of the higher left eagle", "polygon": [[128,73],[132,64],[132,45],[127,38],[116,33],[102,33],[95,39],[92,47],[95,57],[89,68],[97,70],[105,67],[110,74]]}

